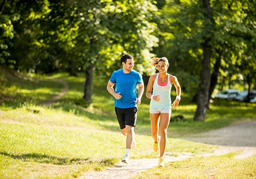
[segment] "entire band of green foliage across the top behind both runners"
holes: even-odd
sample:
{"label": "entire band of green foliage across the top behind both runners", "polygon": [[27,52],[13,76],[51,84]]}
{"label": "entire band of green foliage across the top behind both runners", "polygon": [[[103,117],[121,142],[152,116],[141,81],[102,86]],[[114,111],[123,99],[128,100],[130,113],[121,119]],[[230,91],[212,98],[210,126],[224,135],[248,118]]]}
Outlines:
{"label": "entire band of green foliage across the top behind both runners", "polygon": [[[219,86],[247,81],[255,88],[255,7],[246,0],[210,3],[212,22],[204,19],[202,2],[196,0],[6,1],[0,16],[0,63],[39,74],[93,69],[108,79],[120,68],[123,53],[135,57],[135,70],[144,75],[154,73],[153,56],[166,56],[172,73],[190,74],[189,86],[196,86],[201,44],[208,35],[211,69],[222,59]],[[194,96],[195,89],[185,91]]]}

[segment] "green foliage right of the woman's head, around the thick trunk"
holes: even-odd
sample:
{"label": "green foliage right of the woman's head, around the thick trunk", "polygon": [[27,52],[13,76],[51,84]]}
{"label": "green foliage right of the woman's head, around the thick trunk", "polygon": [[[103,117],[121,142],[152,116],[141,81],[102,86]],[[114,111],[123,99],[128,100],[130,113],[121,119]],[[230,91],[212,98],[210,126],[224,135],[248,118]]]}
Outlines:
{"label": "green foliage right of the woman's head, around the thick trunk", "polygon": [[[199,79],[203,59],[201,44],[203,37],[208,35],[212,46],[211,71],[216,59],[222,59],[218,77],[220,86],[244,85],[246,79],[255,88],[255,82],[247,80],[255,79],[256,71],[255,55],[252,54],[255,6],[248,1],[210,1],[210,5],[212,22],[204,19],[201,1],[166,1],[157,22],[160,41],[154,52],[169,59],[174,74],[185,71]],[[208,23],[214,24],[214,29],[209,28]],[[238,78],[241,75],[243,78]]]}

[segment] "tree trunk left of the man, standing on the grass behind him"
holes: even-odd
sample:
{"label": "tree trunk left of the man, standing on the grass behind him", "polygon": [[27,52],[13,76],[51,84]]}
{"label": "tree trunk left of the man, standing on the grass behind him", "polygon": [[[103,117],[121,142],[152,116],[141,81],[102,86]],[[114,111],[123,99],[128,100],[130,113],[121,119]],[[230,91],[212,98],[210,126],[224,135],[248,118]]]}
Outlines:
{"label": "tree trunk left of the man, standing on the grass behind him", "polygon": [[93,68],[94,68],[93,63],[90,63],[88,69],[86,69],[86,83],[84,85],[84,95],[83,95],[83,99],[86,100],[85,107],[88,107],[92,103]]}

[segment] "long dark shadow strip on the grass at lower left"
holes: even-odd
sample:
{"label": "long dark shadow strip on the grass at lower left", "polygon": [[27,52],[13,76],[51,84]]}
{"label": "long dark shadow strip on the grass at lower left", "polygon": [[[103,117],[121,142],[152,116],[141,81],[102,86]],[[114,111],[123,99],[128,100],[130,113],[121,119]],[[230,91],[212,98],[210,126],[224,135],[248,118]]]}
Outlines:
{"label": "long dark shadow strip on the grass at lower left", "polygon": [[84,163],[90,162],[89,158],[86,158],[86,159],[58,158],[57,156],[38,154],[38,153],[24,153],[20,155],[15,155],[15,154],[6,153],[6,152],[0,152],[0,154],[13,158],[15,160],[22,160],[24,162],[37,162],[37,163],[53,164],[53,165],[84,164]]}

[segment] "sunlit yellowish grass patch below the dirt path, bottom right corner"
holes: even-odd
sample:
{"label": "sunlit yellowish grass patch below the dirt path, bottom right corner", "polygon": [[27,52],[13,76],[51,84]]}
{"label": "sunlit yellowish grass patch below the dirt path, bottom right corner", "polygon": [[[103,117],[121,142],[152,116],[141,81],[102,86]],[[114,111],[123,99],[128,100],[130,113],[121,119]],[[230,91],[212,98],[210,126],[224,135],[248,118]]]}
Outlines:
{"label": "sunlit yellowish grass patch below the dirt path, bottom right corner", "polygon": [[236,160],[233,158],[235,154],[169,162],[165,163],[164,168],[153,168],[132,178],[255,178],[256,155],[244,160]]}

